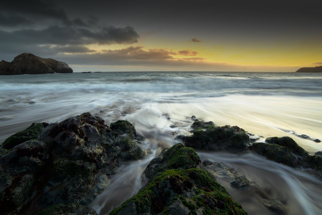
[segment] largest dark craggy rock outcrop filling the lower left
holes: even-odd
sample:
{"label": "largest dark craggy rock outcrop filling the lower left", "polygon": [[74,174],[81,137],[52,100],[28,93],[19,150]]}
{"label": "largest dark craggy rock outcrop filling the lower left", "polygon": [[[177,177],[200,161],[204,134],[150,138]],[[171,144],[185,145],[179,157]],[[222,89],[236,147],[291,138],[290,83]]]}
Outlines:
{"label": "largest dark craggy rock outcrop filling the lower left", "polygon": [[[2,214],[16,214],[31,200],[44,208],[86,205],[108,186],[118,166],[146,154],[139,142],[143,137],[127,121],[109,127],[101,118],[83,113],[43,125],[34,123],[1,146]],[[27,134],[32,139],[22,142]]]}

